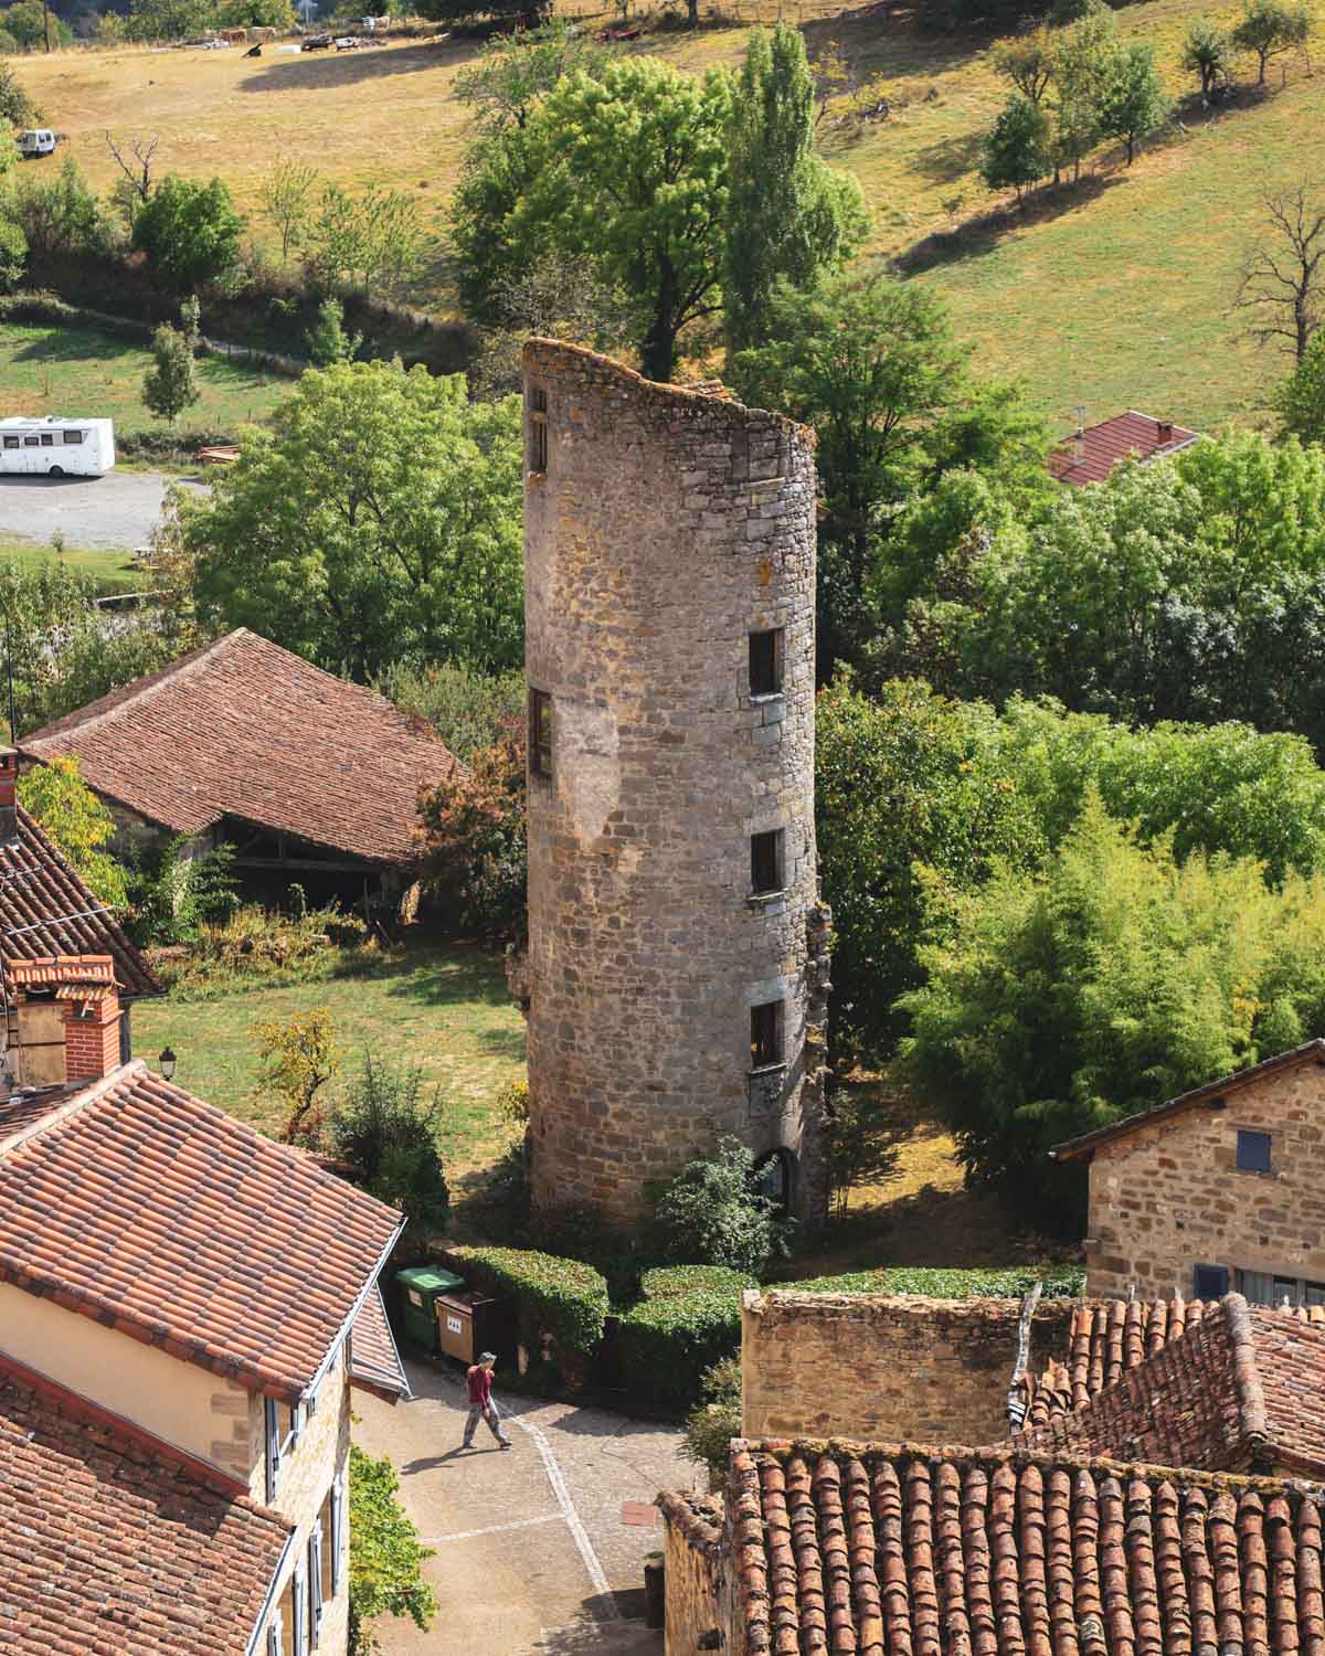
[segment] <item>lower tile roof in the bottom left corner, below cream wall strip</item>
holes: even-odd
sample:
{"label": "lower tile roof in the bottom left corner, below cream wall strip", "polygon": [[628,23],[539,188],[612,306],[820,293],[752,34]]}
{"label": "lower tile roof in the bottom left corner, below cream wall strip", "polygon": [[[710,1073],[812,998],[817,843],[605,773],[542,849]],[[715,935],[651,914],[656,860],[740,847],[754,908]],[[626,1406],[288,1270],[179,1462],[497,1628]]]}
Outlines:
{"label": "lower tile roof in the bottom left corner, below cream wall strip", "polygon": [[245,1656],[290,1527],[0,1358],[0,1651]]}

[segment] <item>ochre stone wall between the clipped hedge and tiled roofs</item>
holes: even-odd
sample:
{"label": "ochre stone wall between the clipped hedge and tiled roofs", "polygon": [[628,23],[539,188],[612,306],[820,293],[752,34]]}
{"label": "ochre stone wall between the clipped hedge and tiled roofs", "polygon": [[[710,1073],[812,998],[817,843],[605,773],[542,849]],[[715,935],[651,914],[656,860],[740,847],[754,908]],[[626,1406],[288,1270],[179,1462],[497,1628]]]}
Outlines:
{"label": "ochre stone wall between the clipped hedge and tiled roofs", "polygon": [[[1062,1356],[1068,1300],[1042,1300],[1030,1368]],[[1019,1300],[750,1292],[742,1436],[980,1446],[1007,1436]]]}

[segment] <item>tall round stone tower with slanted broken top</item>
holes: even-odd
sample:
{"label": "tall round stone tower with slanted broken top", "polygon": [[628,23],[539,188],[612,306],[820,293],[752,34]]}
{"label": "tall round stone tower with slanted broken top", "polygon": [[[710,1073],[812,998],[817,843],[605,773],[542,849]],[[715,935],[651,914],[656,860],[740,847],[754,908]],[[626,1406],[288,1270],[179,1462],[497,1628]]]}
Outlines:
{"label": "tall round stone tower with slanted broken top", "polygon": [[535,1206],[629,1225],[730,1133],[813,1225],[813,437],[532,339],[525,442]]}

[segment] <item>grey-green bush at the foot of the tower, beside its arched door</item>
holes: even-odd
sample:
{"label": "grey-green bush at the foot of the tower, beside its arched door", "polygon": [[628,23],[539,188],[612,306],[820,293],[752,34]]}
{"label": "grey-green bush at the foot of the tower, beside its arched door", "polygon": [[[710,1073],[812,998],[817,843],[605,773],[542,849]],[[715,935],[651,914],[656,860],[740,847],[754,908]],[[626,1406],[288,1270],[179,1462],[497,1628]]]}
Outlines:
{"label": "grey-green bush at the foot of the tower, beside its arched door", "polygon": [[787,1254],[790,1229],[759,1194],[754,1151],[735,1138],[719,1139],[711,1156],[686,1163],[654,1194],[653,1249],[662,1262],[699,1260],[757,1275]]}

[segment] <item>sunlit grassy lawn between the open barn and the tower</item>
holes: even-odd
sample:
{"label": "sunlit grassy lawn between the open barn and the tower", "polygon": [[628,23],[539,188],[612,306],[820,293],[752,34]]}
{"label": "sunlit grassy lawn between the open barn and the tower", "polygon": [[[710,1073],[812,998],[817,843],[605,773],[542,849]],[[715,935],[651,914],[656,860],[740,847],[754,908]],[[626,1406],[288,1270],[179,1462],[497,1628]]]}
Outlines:
{"label": "sunlit grassy lawn between the open barn and the tower", "polygon": [[326,1007],[344,1052],[331,1095],[343,1091],[361,1055],[422,1070],[442,1098],[441,1149],[452,1192],[464,1197],[513,1133],[492,1100],[525,1073],[525,1023],[507,992],[500,956],[469,944],[411,946],[384,956],[366,975],[283,989],[253,989],[224,1000],[144,1000],[134,1007],[134,1057],[156,1065],[169,1045],[176,1080],[190,1093],[278,1133],[282,1106],[258,1088],[253,1023]]}

